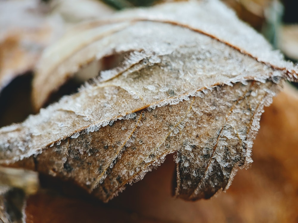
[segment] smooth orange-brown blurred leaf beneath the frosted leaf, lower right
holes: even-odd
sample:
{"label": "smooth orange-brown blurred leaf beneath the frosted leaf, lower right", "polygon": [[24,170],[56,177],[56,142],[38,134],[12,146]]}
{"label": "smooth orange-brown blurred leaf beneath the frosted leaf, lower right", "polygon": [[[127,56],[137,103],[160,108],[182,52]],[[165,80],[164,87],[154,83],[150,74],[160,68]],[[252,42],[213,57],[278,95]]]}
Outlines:
{"label": "smooth orange-brown blurred leaf beneath the frosted leaf, lower right", "polygon": [[239,170],[226,193],[197,202],[174,199],[170,195],[169,174],[174,164],[167,158],[157,170],[127,187],[108,205],[164,222],[296,223],[297,109],[298,91],[285,85],[262,114],[252,148],[252,167]]}

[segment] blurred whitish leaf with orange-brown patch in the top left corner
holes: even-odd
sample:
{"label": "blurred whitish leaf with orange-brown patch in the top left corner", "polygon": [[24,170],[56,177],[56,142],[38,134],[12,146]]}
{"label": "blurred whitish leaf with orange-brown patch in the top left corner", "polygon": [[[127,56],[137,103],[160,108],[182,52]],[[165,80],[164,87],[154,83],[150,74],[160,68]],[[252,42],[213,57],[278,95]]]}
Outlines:
{"label": "blurred whitish leaf with orange-brown patch in the top left corner", "polygon": [[46,17],[38,0],[0,1],[0,91],[35,66],[41,51],[62,32],[61,19]]}

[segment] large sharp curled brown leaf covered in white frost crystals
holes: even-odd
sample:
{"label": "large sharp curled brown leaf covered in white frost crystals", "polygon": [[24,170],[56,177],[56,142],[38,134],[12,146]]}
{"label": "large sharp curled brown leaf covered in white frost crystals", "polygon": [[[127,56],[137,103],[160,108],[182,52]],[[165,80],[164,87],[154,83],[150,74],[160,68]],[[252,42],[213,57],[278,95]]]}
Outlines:
{"label": "large sharp curled brown leaf covered in white frost crystals", "polygon": [[[122,63],[103,69],[112,56]],[[225,190],[238,166],[252,162],[263,106],[283,79],[297,78],[297,67],[215,0],[127,11],[73,29],[44,52],[36,107],[88,63],[103,71],[78,93],[0,129],[0,163],[74,181],[103,201],[170,153],[176,197]]]}

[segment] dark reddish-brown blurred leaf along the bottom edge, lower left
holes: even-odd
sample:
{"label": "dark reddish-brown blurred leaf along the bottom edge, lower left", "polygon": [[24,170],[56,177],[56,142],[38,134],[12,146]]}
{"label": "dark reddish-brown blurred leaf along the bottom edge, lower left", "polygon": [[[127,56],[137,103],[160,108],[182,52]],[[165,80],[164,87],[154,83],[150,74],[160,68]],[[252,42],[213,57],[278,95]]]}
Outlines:
{"label": "dark reddish-brown blurred leaf along the bottom edge, lower left", "polygon": [[51,193],[38,193],[28,198],[25,208],[27,223],[70,223],[70,222],[124,222],[162,223],[156,218],[147,218],[122,208],[106,207],[98,203],[62,197]]}

